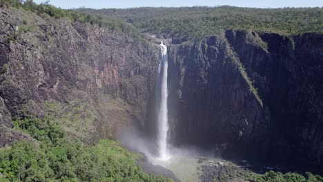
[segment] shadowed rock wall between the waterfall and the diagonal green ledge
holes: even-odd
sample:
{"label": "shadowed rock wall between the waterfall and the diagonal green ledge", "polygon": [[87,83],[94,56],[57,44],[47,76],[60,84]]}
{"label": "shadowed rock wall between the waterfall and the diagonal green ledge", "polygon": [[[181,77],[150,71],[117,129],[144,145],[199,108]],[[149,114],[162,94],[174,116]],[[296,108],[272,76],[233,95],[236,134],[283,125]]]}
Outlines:
{"label": "shadowed rock wall between the waterfall and the diagonal green ledge", "polygon": [[[175,104],[175,112],[170,112],[175,143],[222,149],[239,145],[242,154],[248,145],[264,141],[266,110],[242,76],[224,34],[173,46],[170,54],[170,97],[174,99],[169,102],[170,107]],[[175,75],[178,79],[172,78]]]}

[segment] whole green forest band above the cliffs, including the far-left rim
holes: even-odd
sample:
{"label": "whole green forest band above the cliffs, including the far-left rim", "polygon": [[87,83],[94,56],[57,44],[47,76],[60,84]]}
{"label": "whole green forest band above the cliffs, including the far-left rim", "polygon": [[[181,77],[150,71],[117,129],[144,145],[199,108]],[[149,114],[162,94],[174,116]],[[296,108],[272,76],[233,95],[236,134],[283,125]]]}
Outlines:
{"label": "whole green forest band above the cliffs, including the far-left rim", "polygon": [[183,7],[183,8],[128,8],[100,9],[80,8],[63,10],[46,3],[32,0],[0,0],[0,4],[48,14],[50,17],[67,17],[98,26],[108,26],[136,39],[140,32],[159,34],[164,37],[201,39],[221,30],[251,30],[280,34],[323,33],[323,8],[238,8]]}

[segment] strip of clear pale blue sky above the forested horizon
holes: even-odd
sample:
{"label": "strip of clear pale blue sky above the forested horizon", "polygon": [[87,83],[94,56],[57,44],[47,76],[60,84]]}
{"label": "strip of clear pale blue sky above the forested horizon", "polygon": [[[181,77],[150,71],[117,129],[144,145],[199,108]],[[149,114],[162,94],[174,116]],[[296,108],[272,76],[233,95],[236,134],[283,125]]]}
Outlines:
{"label": "strip of clear pale blue sky above the forested horizon", "polygon": [[[34,0],[36,3],[46,0]],[[50,4],[61,8],[135,8],[135,7],[179,7],[179,6],[239,6],[253,8],[323,7],[323,0],[50,0]]]}

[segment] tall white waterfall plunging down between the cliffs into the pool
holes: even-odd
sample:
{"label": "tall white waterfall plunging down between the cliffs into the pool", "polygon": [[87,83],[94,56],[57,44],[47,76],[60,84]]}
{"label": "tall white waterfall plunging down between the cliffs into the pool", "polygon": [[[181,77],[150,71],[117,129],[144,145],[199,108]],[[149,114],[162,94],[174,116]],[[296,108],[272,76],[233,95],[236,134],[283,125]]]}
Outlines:
{"label": "tall white waterfall plunging down between the cliffs into the pool", "polygon": [[169,159],[167,148],[167,133],[168,133],[168,109],[167,109],[167,68],[168,68],[168,55],[167,47],[163,41],[160,43],[161,47],[161,61],[158,66],[157,72],[157,144],[159,160],[166,161]]}

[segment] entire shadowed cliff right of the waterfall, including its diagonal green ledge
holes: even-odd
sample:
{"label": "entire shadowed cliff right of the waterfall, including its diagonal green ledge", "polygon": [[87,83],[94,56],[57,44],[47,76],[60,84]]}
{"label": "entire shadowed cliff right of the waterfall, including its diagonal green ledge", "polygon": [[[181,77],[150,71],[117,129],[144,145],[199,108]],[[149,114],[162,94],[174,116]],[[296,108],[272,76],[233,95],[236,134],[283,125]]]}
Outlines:
{"label": "entire shadowed cliff right of the waterfall, including its diagonal green ledge", "polygon": [[322,43],[321,34],[228,30],[173,45],[173,143],[322,165]]}

